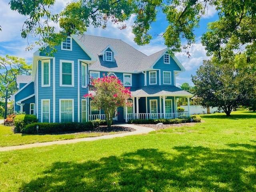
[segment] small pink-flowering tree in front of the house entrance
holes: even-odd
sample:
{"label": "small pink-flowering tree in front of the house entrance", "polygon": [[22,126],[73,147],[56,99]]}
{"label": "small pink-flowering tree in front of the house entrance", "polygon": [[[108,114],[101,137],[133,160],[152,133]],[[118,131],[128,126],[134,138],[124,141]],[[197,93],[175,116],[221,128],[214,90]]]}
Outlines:
{"label": "small pink-flowering tree in front of the house entrance", "polygon": [[84,98],[91,98],[94,105],[104,111],[110,128],[116,108],[128,105],[126,100],[131,97],[130,88],[124,87],[116,76],[91,79],[91,86],[94,93],[85,94]]}

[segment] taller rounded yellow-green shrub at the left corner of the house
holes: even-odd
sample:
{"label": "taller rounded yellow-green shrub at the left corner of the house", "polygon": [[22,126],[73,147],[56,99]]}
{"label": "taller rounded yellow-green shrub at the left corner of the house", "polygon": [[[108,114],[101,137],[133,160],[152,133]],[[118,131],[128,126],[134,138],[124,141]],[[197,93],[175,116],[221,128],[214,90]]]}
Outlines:
{"label": "taller rounded yellow-green shrub at the left corner of the house", "polygon": [[14,131],[20,132],[22,129],[31,123],[37,122],[37,118],[35,115],[26,115],[26,114],[20,114],[16,115],[14,118]]}

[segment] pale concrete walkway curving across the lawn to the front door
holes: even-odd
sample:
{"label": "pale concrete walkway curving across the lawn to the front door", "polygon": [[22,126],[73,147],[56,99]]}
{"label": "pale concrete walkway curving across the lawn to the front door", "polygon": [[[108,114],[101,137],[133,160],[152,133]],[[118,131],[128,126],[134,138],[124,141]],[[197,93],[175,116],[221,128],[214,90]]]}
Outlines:
{"label": "pale concrete walkway curving across the lawn to the front door", "polygon": [[95,141],[99,139],[111,139],[116,137],[124,137],[128,135],[138,135],[138,134],[146,134],[148,132],[154,131],[153,128],[142,127],[142,126],[135,126],[131,124],[120,124],[119,126],[130,127],[136,129],[136,131],[120,133],[120,134],[112,134],[112,135],[103,135],[99,137],[86,137],[86,138],[78,138],[78,139],[70,139],[70,140],[61,140],[61,141],[50,141],[50,142],[43,142],[43,143],[32,143],[32,144],[25,144],[25,145],[18,145],[18,146],[8,146],[8,147],[0,147],[1,151],[11,151],[11,150],[19,150],[19,149],[28,149],[33,147],[42,147],[42,146],[49,146],[49,145],[62,145],[62,144],[70,144],[70,143],[77,143],[82,141]]}

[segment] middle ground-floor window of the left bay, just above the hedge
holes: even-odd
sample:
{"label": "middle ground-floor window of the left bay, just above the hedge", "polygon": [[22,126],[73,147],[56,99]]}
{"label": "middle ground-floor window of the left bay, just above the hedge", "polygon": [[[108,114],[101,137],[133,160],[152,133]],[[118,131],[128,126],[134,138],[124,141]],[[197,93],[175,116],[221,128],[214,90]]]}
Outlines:
{"label": "middle ground-floor window of the left bay, just above the hedge", "polygon": [[60,99],[60,122],[74,122],[73,99]]}

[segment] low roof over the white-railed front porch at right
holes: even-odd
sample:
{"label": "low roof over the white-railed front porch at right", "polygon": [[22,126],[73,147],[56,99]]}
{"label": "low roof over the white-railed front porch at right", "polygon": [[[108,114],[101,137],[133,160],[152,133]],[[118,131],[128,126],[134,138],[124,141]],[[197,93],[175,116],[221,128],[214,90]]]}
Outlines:
{"label": "low roof over the white-railed front porch at right", "polygon": [[186,96],[192,97],[193,95],[187,91],[182,90],[176,86],[170,85],[150,85],[137,88],[131,88],[132,96]]}

